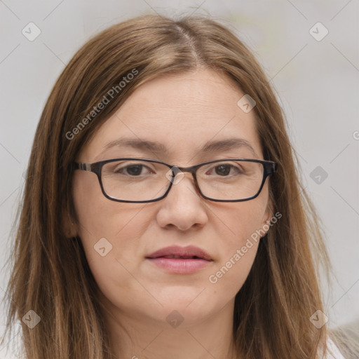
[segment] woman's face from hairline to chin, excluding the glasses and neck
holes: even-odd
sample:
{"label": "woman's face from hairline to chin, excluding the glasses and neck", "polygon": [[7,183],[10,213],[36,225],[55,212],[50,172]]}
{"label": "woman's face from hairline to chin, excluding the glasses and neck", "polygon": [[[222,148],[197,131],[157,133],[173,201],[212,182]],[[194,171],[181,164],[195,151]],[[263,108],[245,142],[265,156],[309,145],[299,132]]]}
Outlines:
{"label": "woman's face from hairline to chin, excluding the glasses and neck", "polygon": [[[255,111],[243,111],[237,104],[243,95],[211,70],[158,77],[135,90],[76,160],[152,158],[188,167],[222,158],[263,159]],[[156,142],[166,151],[106,148],[120,138]],[[249,146],[201,151],[208,142],[229,139],[245,140]],[[77,235],[107,309],[118,318],[158,325],[178,317],[181,325],[191,326],[227,304],[233,311],[234,297],[257,252],[259,236],[254,241],[251,235],[271,218],[268,180],[251,201],[213,202],[198,194],[187,172],[161,201],[121,203],[104,197],[94,173],[77,170],[73,196]],[[194,246],[210,260],[191,259],[189,264],[184,258],[149,258],[172,246],[184,252]]]}

